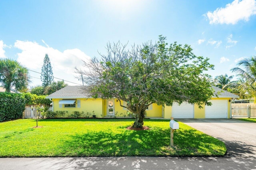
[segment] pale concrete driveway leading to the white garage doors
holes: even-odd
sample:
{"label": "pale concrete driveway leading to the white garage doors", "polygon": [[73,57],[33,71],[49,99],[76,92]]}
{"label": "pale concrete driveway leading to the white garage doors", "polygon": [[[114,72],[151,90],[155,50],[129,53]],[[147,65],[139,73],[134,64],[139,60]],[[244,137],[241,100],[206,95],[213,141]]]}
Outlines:
{"label": "pale concrete driveway leading to the white garage doors", "polygon": [[237,119],[176,119],[222,140],[227,156],[256,158],[256,123]]}

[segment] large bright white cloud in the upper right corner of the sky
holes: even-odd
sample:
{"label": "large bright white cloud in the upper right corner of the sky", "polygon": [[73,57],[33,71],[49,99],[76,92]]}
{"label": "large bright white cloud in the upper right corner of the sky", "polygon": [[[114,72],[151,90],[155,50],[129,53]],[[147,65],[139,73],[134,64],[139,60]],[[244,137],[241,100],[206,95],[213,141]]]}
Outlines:
{"label": "large bright white cloud in the upper right corner of the sky", "polygon": [[217,8],[214,12],[207,12],[210,24],[236,24],[239,20],[248,21],[256,14],[255,0],[234,0],[225,8]]}

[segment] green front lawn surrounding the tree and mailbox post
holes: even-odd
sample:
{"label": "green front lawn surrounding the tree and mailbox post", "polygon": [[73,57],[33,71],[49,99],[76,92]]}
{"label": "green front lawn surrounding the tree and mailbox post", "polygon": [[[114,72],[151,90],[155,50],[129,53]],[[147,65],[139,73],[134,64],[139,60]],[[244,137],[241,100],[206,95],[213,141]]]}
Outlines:
{"label": "green front lawn surrounding the tree and mailbox post", "polygon": [[33,119],[0,123],[0,157],[224,156],[220,140],[179,122],[170,147],[168,120],[144,121],[150,130],[127,130],[132,119]]}

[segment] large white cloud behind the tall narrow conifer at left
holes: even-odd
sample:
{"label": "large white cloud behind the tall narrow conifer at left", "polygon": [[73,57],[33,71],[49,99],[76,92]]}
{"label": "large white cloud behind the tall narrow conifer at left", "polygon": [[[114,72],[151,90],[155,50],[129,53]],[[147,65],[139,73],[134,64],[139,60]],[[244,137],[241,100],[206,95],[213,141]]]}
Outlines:
{"label": "large white cloud behind the tall narrow conifer at left", "polygon": [[[45,42],[44,44],[46,45]],[[48,53],[52,64],[52,72],[54,77],[78,84],[81,84],[81,82],[74,78],[74,76],[77,75],[76,73],[74,73],[74,67],[80,68],[82,67],[82,60],[90,59],[90,57],[82,52],[80,49],[66,49],[65,51],[61,52],[58,49],[54,49],[52,47],[49,47],[48,45],[46,45],[45,47],[36,42],[17,40],[14,43],[14,47],[22,50],[21,53],[18,53],[17,61],[28,69],[41,73],[44,56],[46,53]],[[40,74],[32,74],[33,77],[40,78]],[[54,79],[54,81],[58,81],[58,79]],[[42,82],[40,81],[40,79],[37,79],[33,80],[32,85],[38,85],[41,83]],[[71,83],[70,85],[76,84]]]}

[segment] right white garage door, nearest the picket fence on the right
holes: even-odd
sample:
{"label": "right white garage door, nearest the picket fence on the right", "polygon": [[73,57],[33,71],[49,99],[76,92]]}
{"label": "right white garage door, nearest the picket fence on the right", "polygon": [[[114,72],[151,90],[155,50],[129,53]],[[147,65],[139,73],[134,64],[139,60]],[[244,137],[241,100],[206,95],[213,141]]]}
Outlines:
{"label": "right white garage door, nearest the picket fence on the right", "polygon": [[227,118],[228,101],[210,100],[211,106],[205,106],[205,118]]}

